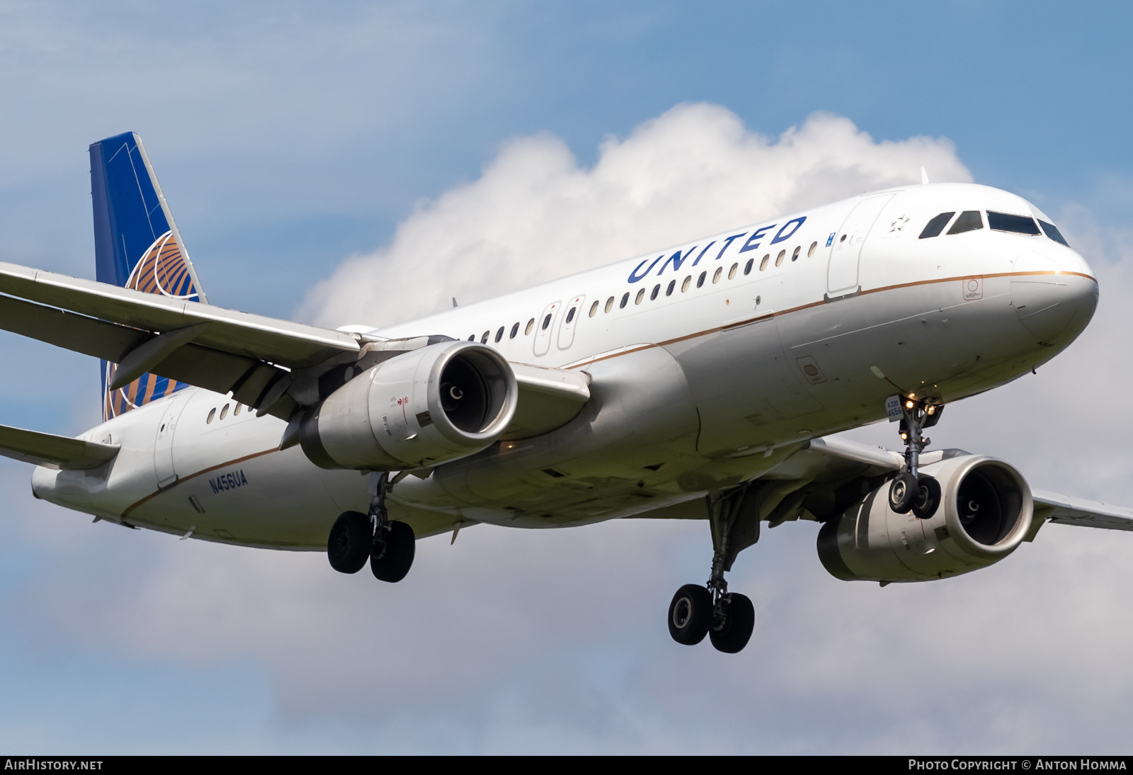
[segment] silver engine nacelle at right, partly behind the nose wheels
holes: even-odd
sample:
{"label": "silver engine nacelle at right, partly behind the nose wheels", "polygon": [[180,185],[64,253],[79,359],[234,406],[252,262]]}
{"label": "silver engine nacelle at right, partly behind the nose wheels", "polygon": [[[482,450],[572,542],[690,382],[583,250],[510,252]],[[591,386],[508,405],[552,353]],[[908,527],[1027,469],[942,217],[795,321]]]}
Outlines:
{"label": "silver engine nacelle at right, partly behind the nose wheels", "polygon": [[818,533],[818,557],[845,581],[928,581],[966,573],[1015,551],[1031,527],[1031,488],[1012,466],[974,454],[920,469],[940,484],[929,519],[889,510],[889,483]]}

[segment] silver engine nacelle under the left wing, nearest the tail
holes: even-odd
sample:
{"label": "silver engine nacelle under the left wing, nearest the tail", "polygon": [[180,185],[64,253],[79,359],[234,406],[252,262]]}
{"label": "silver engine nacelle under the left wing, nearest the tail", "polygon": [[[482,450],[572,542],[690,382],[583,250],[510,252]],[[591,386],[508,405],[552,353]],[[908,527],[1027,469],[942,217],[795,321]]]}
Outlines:
{"label": "silver engine nacelle under the left wing, nearest the tail", "polygon": [[299,444],[321,468],[435,466],[494,443],[516,414],[508,361],[474,342],[441,342],[355,376],[300,420]]}

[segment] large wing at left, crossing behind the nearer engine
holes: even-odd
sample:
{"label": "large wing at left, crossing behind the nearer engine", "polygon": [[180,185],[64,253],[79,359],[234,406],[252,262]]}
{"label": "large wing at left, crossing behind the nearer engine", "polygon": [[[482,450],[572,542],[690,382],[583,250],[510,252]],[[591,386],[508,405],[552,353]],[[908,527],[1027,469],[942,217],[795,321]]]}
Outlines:
{"label": "large wing at left, crossing behind the nearer engine", "polygon": [[[111,388],[146,372],[289,419],[320,399],[318,377],[359,358],[393,357],[446,337],[361,335],[143,293],[0,263],[0,329],[118,364]],[[368,363],[368,361],[366,361]],[[590,398],[581,372],[513,364],[519,407],[506,438],[547,433]]]}

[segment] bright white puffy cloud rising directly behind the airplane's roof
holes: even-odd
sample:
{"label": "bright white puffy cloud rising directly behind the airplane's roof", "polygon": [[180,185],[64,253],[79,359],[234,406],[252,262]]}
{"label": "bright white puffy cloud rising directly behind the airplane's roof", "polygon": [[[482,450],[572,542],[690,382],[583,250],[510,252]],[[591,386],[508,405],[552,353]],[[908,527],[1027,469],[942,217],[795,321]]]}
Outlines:
{"label": "bright white puffy cloud rising directly behind the airplane's roof", "polygon": [[505,144],[479,179],[419,204],[391,242],[343,262],[304,320],[387,324],[864,190],[969,181],[946,139],[875,142],[816,113],[777,139],[725,108],[681,104],[580,168],[552,135]]}

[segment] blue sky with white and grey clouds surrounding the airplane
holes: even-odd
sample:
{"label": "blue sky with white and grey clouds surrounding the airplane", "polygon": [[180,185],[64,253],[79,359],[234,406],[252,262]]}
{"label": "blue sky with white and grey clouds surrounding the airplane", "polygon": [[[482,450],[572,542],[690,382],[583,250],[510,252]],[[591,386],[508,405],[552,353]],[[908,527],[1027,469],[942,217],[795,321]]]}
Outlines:
{"label": "blue sky with white and grey clouds surrounding the airplane", "polygon": [[[86,146],[142,135],[210,301],[374,325],[867,188],[1028,197],[1101,301],[934,446],[1133,505],[1133,125],[1119,3],[0,1],[0,259],[94,275]],[[0,334],[0,423],[77,434],[97,366]],[[34,378],[31,378],[34,377]],[[896,446],[892,427],[852,438]],[[0,461],[0,748],[22,752],[1111,753],[1133,535],[1047,526],[922,585],[842,582],[815,526],[685,648],[702,523],[478,526],[409,577],[127,531]]]}

